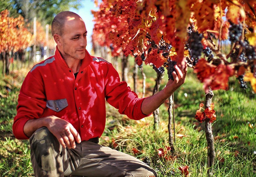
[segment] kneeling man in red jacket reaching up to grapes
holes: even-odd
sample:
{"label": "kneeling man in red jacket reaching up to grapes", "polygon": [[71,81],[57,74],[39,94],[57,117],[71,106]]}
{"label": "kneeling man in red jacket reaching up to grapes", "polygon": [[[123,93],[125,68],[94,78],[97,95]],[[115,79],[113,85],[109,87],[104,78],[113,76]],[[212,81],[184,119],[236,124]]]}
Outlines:
{"label": "kneeling man in red jacket reaching up to grapes", "polygon": [[154,96],[138,98],[120,82],[113,66],[86,50],[86,27],[76,13],[52,23],[55,55],[27,74],[18,98],[13,132],[30,139],[35,176],[156,176],[148,165],[98,145],[105,127],[105,99],[119,113],[139,120],[150,115],[185,81],[177,65],[174,81]]}

